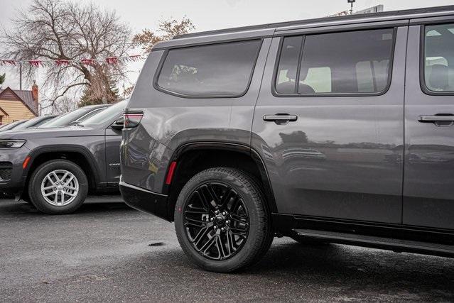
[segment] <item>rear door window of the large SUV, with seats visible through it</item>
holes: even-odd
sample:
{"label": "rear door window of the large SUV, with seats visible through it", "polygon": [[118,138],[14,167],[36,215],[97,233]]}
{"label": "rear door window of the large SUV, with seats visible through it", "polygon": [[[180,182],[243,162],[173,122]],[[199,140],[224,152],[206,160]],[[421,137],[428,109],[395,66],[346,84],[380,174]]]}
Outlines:
{"label": "rear door window of the large SUV, with seats visible through it", "polygon": [[[300,53],[292,54],[293,61],[288,58],[287,45],[295,41],[293,48],[297,48],[296,37],[283,40],[276,75],[277,93],[377,94],[389,86],[393,28],[323,33],[301,38],[303,46]],[[298,72],[295,76],[288,73],[283,89],[281,75],[293,69],[298,69]],[[291,82],[298,84],[289,91]]]}

